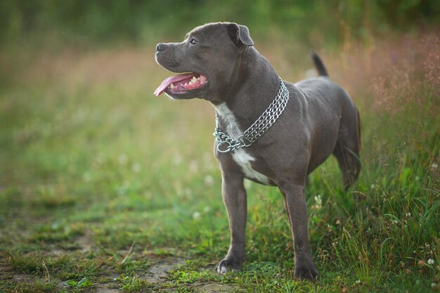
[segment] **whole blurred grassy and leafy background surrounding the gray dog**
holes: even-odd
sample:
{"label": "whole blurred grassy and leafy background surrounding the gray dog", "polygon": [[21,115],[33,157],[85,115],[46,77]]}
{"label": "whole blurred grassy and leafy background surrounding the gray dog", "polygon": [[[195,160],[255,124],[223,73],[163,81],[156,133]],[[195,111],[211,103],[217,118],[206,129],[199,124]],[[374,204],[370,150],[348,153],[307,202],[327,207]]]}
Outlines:
{"label": "whole blurred grassy and leafy background surrounding the gray dog", "polygon": [[[148,249],[157,247],[205,257],[196,271],[224,256],[214,110],[203,100],[153,96],[170,74],[155,63],[155,44],[216,21],[247,25],[254,46],[292,82],[313,69],[317,51],[361,111],[358,183],[344,193],[330,158],[306,191],[323,284],[333,292],[427,292],[438,283],[440,1],[3,0],[0,268],[8,273],[0,289],[16,288],[23,272],[27,292],[58,288],[53,278],[136,275],[154,263]],[[260,274],[261,286],[288,285],[282,197],[246,186],[247,273]],[[261,273],[258,263],[268,260],[278,264]],[[245,280],[230,282],[272,292]]]}

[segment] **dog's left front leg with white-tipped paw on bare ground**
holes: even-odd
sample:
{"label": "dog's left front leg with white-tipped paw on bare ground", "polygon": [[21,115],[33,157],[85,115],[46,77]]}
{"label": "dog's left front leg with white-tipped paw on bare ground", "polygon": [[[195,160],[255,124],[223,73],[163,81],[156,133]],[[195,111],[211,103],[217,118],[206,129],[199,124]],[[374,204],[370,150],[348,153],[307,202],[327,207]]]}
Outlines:
{"label": "dog's left front leg with white-tipped paw on bare ground", "polygon": [[245,230],[247,217],[247,195],[242,174],[223,172],[221,192],[228,210],[231,245],[228,254],[217,265],[217,273],[228,270],[240,271],[245,261]]}

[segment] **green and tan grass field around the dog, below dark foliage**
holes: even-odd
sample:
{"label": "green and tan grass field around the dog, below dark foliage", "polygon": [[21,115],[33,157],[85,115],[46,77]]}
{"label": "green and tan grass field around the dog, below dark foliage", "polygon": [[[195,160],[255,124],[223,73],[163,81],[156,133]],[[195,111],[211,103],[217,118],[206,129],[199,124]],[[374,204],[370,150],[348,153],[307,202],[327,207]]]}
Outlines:
{"label": "green and tan grass field around the dog, below dark foliage", "polygon": [[[363,169],[349,193],[335,159],[311,176],[316,284],[292,278],[282,197],[250,182],[247,261],[214,273],[229,241],[214,111],[153,98],[152,51],[1,52],[0,292],[438,290],[439,39],[354,45],[324,59],[361,108]],[[289,48],[257,48],[302,78]]]}

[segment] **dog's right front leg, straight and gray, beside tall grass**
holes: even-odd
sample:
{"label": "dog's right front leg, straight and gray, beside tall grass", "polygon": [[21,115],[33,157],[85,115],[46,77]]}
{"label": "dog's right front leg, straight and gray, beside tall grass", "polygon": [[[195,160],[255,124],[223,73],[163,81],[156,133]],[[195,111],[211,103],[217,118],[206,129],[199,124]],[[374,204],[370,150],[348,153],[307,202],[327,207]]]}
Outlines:
{"label": "dog's right front leg, straight and gray, beside tall grass", "polygon": [[315,280],[318,271],[311,259],[304,185],[304,183],[298,184],[289,181],[278,187],[284,196],[287,217],[292,231],[295,250],[295,278]]}

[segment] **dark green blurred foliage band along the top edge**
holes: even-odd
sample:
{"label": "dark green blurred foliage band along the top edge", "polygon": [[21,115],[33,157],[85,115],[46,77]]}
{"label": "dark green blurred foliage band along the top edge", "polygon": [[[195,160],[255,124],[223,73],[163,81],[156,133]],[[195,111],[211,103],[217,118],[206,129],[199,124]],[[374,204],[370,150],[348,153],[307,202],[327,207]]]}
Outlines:
{"label": "dark green blurred foliage band along the top edge", "polygon": [[183,37],[195,25],[227,20],[249,26],[254,36],[281,31],[285,37],[319,46],[338,44],[347,33],[365,39],[371,30],[383,32],[387,25],[404,29],[438,22],[439,15],[435,0],[6,0],[0,4],[0,39],[54,34],[51,41],[60,44],[115,39],[154,43],[164,35]]}

